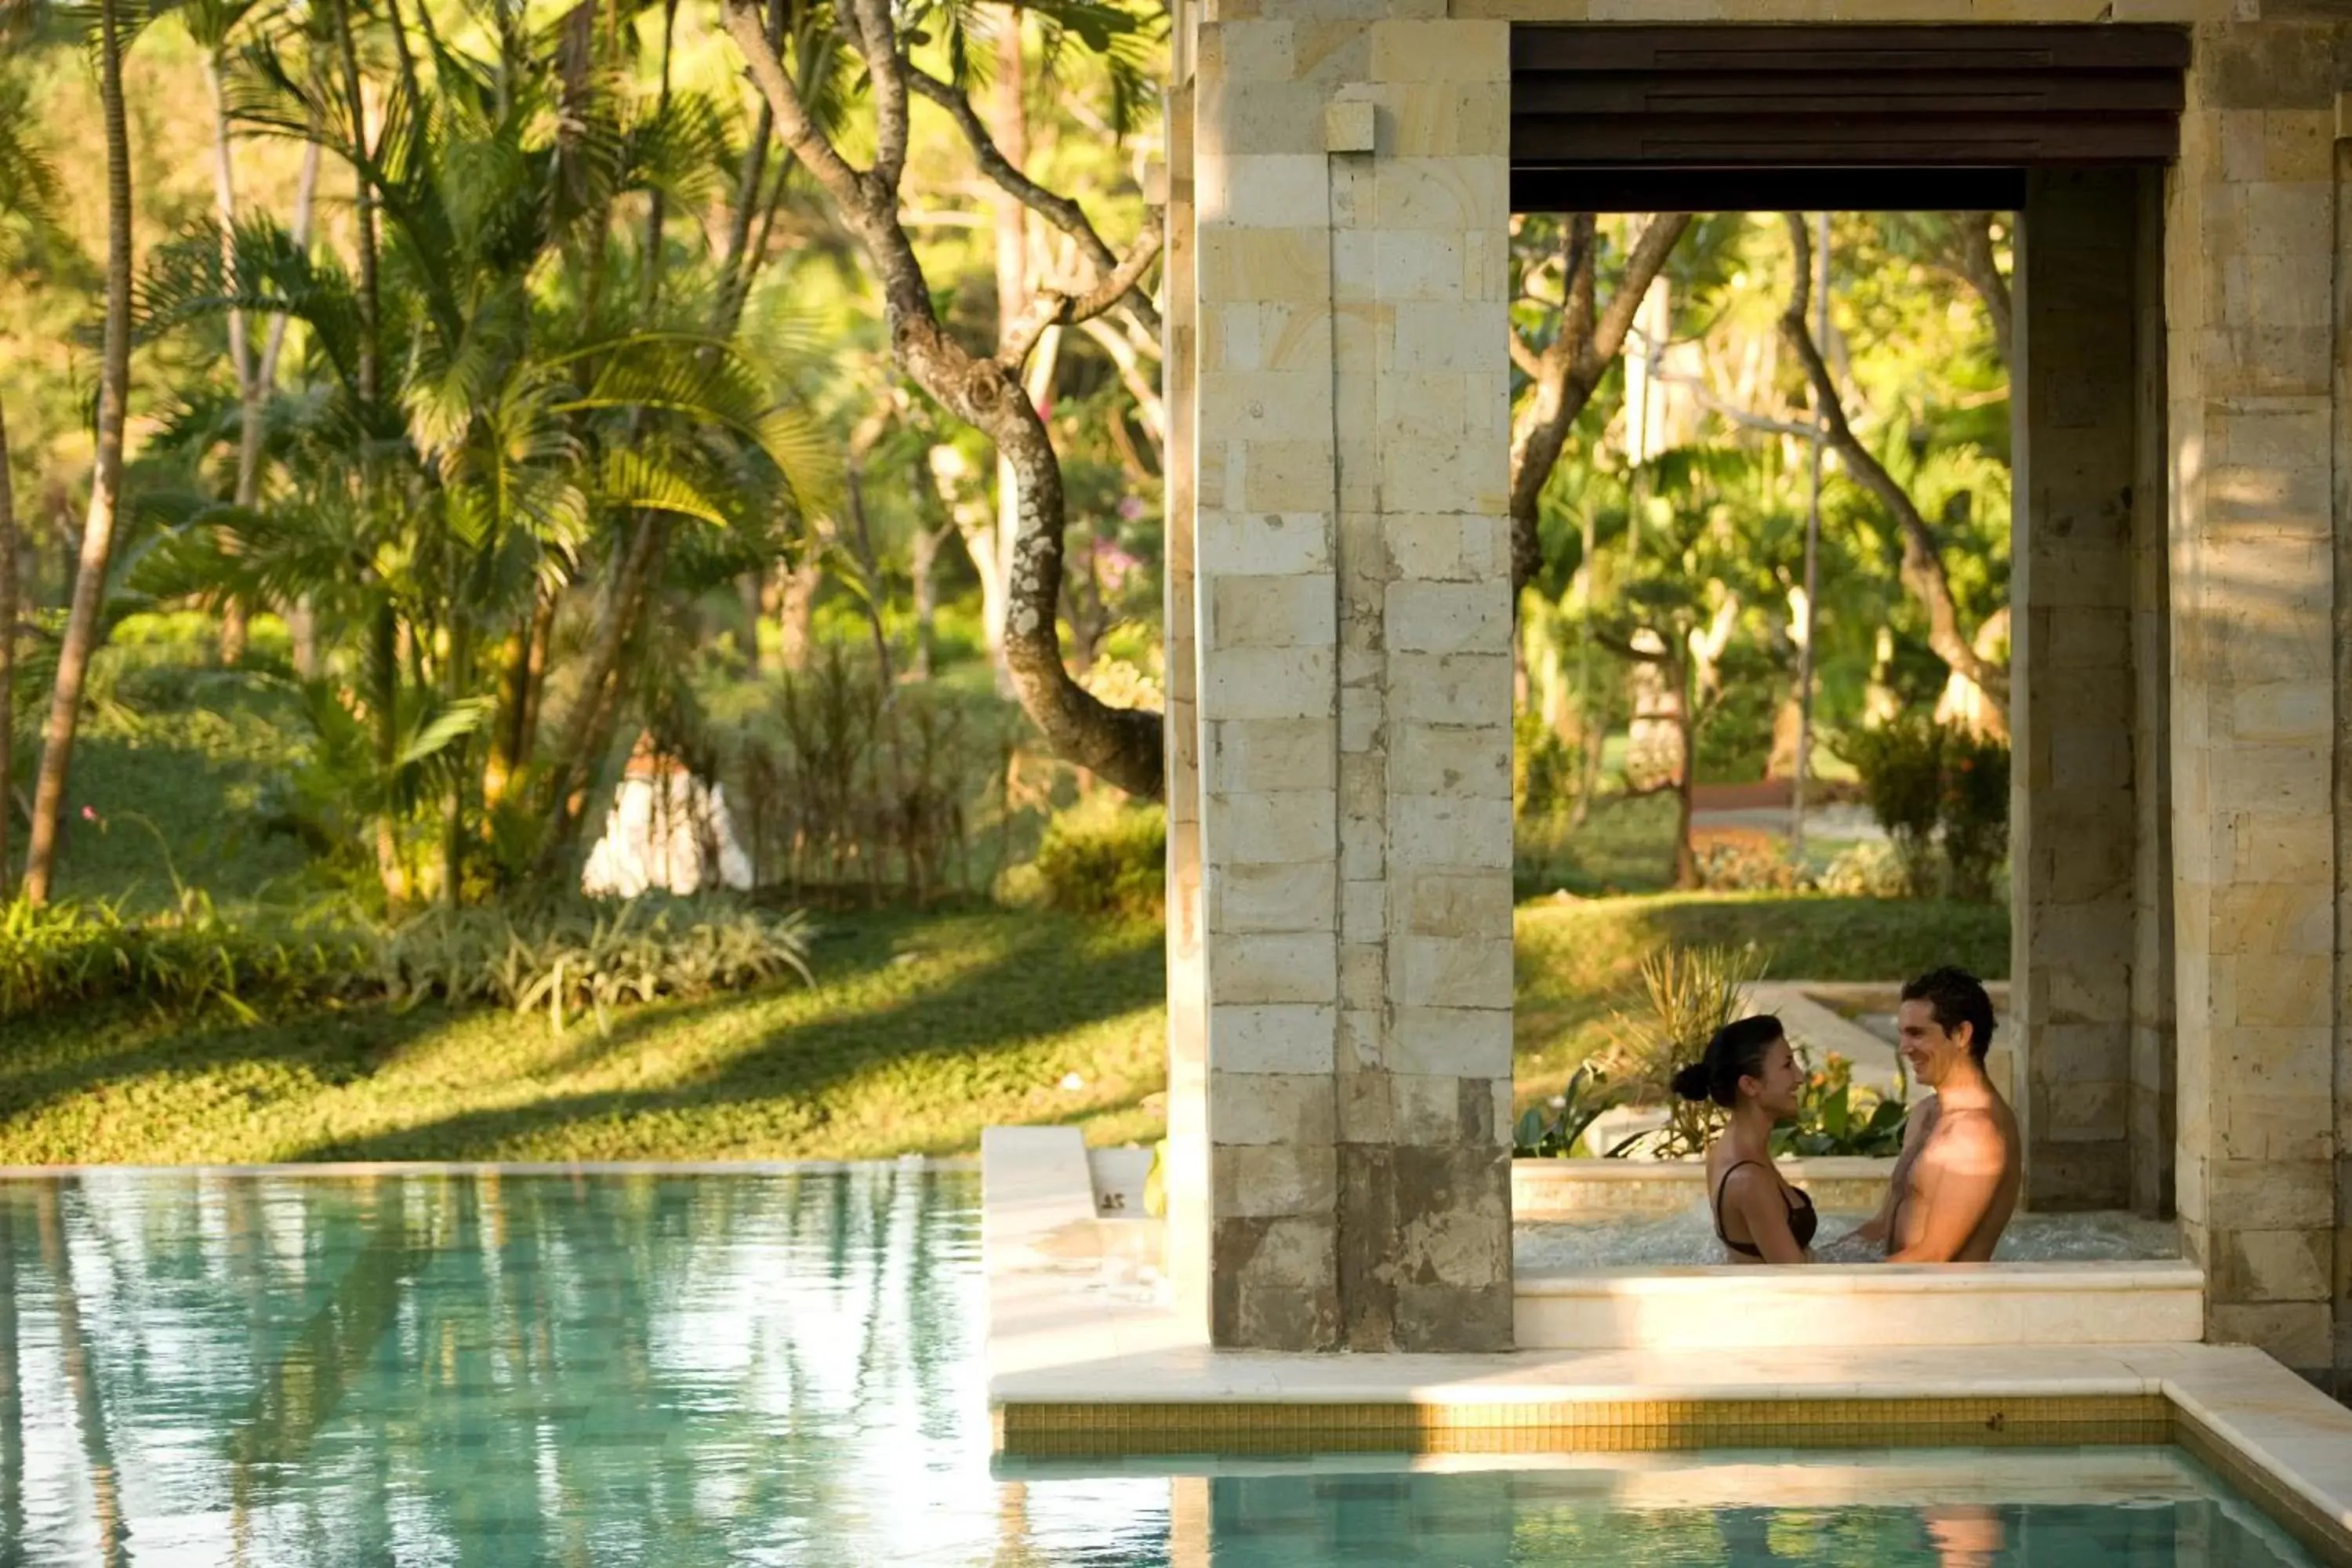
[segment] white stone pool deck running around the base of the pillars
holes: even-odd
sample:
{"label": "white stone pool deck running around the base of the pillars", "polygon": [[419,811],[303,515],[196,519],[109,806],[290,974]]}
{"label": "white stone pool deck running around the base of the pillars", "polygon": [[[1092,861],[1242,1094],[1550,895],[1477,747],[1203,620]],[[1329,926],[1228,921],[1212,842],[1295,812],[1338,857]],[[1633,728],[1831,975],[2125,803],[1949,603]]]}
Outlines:
{"label": "white stone pool deck running around the base of the pillars", "polygon": [[[1065,1135],[1056,1135],[1065,1133]],[[2352,1410],[2272,1356],[2227,1345],[1856,1347],[1823,1300],[1820,1340],[1783,1347],[1512,1354],[1218,1352],[1120,1260],[1065,1128],[983,1143],[988,1401],[1023,1406],[1599,1406],[1672,1401],[2161,1399],[2260,1481],[2272,1512],[2321,1521],[2352,1561]],[[1108,1232],[1108,1237],[1105,1237]],[[1987,1269],[2013,1265],[1987,1265]],[[2105,1267],[2105,1265],[2091,1265]],[[1792,1418],[1802,1410],[1790,1410]],[[2246,1474],[2237,1476],[2241,1483]],[[2286,1519],[2281,1519],[2286,1521]],[[2286,1521],[2293,1523],[2293,1521]],[[2298,1530],[2305,1533],[2307,1530]],[[2326,1549],[2333,1544],[2336,1549]]]}

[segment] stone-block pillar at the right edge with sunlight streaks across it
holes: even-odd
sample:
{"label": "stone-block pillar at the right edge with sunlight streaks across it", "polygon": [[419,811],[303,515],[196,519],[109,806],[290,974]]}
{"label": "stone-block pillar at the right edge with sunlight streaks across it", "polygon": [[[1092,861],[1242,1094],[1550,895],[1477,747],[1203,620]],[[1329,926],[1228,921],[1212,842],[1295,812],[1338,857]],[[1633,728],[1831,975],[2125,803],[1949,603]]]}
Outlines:
{"label": "stone-block pillar at the right edge with sunlight streaks across it", "polygon": [[[2194,35],[2166,214],[2178,1201],[2206,1335],[2338,1356],[2336,59]],[[2284,7],[2281,7],[2284,9]]]}

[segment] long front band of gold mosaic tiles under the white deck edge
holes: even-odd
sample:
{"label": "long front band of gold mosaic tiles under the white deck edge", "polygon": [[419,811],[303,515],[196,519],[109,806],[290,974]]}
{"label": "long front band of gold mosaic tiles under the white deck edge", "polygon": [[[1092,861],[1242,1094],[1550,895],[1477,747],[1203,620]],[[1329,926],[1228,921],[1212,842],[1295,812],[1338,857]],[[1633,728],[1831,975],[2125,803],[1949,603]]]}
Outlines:
{"label": "long front band of gold mosaic tiles under the white deck edge", "polygon": [[1639,1453],[1679,1448],[2034,1448],[2164,1443],[2161,1394],[2025,1399],[1642,1399],[1541,1403],[1018,1403],[997,1450],[1127,1453]]}

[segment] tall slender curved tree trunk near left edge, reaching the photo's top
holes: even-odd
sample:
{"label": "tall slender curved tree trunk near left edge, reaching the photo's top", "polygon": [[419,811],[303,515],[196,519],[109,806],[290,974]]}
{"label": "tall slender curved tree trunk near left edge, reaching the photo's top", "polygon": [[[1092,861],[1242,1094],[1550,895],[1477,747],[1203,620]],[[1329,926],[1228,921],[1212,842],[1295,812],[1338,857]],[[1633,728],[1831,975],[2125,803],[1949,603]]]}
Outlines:
{"label": "tall slender curved tree trunk near left edge, reaching the photo's top", "polygon": [[122,33],[115,0],[99,0],[99,96],[106,110],[106,346],[99,369],[99,461],[89,482],[89,520],[73,576],[73,609],[56,654],[56,686],[33,785],[33,835],[26,851],[24,896],[49,900],[56,875],[56,830],[66,809],[73,736],[82,719],[82,684],[106,611],[106,567],[122,505],[122,428],[132,390],[132,146],[122,118]]}

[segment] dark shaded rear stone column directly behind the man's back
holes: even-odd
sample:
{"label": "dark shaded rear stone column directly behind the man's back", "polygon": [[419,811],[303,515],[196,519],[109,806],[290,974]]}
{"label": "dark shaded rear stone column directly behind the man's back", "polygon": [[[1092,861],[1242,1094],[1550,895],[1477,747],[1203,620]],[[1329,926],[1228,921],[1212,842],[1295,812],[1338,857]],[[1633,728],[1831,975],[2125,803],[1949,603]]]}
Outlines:
{"label": "dark shaded rear stone column directly behind the man's back", "polygon": [[2138,186],[2034,172],[2018,226],[2011,1027],[2030,1208],[2131,1201]]}

